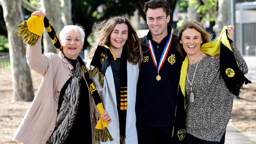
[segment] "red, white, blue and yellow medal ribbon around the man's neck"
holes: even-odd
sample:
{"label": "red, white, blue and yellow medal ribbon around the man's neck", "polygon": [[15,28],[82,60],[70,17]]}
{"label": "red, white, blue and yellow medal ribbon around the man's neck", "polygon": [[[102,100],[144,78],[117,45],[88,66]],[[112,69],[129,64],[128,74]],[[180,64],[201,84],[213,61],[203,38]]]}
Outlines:
{"label": "red, white, blue and yellow medal ribbon around the man's neck", "polygon": [[154,52],[154,49],[153,49],[153,45],[152,45],[152,42],[149,40],[148,42],[148,46],[149,46],[149,50],[150,50],[150,54],[151,54],[151,57],[153,59],[153,62],[154,62],[154,65],[156,66],[156,69],[158,70],[157,72],[159,73],[159,71],[161,70],[162,66],[163,66],[163,62],[165,61],[165,58],[168,54],[168,51],[170,49],[170,46],[172,44],[172,41],[173,41],[173,33],[170,34],[169,38],[168,38],[168,41],[166,42],[165,44],[165,48],[163,50],[163,53],[161,55],[161,58],[160,58],[160,61],[159,61],[159,64],[157,65],[157,62],[156,62],[156,54]]}

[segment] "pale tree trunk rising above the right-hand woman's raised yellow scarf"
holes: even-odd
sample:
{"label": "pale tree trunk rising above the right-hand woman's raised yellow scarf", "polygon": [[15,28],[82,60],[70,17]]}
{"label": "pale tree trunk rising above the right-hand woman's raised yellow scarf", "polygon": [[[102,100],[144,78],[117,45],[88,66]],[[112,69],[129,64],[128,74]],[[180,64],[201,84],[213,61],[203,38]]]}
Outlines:
{"label": "pale tree trunk rising above the right-hand woman's raised yellow scarf", "polygon": [[213,26],[213,31],[216,33],[217,37],[219,37],[223,26],[231,24],[230,0],[219,0],[218,6],[218,14],[217,17],[215,17],[215,26]]}

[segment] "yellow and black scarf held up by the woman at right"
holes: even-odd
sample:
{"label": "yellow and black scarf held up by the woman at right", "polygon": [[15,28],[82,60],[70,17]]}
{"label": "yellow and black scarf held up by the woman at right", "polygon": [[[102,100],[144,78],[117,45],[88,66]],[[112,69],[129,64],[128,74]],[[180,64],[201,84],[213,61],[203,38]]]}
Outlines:
{"label": "yellow and black scarf held up by the woman at right", "polygon": [[[241,70],[239,65],[233,55],[230,43],[232,40],[228,35],[228,26],[224,26],[219,39],[212,42],[207,42],[202,44],[201,50],[208,55],[220,54],[220,71],[221,76],[227,86],[227,88],[232,92],[232,94],[238,96],[241,86],[245,83],[251,83]],[[188,66],[188,57],[186,56],[185,60],[182,63],[182,69],[180,72],[180,88],[182,94],[185,96],[185,82]]]}

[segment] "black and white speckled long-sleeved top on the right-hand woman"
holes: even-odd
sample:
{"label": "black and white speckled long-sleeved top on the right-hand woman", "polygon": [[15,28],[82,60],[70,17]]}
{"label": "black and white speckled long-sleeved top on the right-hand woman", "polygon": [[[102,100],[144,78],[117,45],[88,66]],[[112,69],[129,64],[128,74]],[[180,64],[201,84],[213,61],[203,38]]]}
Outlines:
{"label": "black and white speckled long-sleeved top on the right-hand woman", "polygon": [[[243,74],[248,67],[236,47],[231,43],[237,63],[242,66]],[[210,55],[203,57],[198,64],[193,81],[195,102],[189,101],[190,85],[186,79],[186,130],[187,133],[208,141],[220,141],[229,119],[233,106],[233,94],[226,87],[221,77],[219,59]],[[187,76],[192,81],[197,63],[189,65]]]}

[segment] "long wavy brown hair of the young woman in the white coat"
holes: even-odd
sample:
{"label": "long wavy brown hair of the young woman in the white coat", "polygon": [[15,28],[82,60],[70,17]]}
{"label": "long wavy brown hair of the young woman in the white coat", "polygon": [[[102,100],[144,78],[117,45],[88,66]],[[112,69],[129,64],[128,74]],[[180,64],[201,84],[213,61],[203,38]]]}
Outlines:
{"label": "long wavy brown hair of the young woman in the white coat", "polygon": [[143,56],[142,56],[139,37],[135,29],[132,27],[131,23],[129,22],[129,20],[121,16],[110,17],[107,20],[103,20],[93,25],[93,34],[94,34],[94,37],[97,39],[97,41],[91,47],[88,57],[90,59],[93,58],[93,55],[98,45],[109,46],[111,32],[114,30],[117,24],[126,24],[128,26],[128,39],[123,46],[123,48],[126,48],[128,52],[128,56],[127,56],[128,62],[134,65],[137,63],[140,64],[142,62]]}

